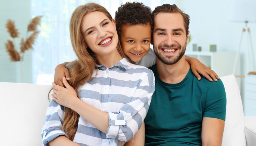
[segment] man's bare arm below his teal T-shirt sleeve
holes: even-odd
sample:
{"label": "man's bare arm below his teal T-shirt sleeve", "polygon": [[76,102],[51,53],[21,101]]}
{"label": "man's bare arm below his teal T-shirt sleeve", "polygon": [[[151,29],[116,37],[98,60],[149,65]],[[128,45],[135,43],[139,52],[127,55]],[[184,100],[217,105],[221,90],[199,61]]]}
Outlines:
{"label": "man's bare arm below his teal T-shirt sleeve", "polygon": [[217,118],[203,118],[203,146],[221,146],[225,121]]}

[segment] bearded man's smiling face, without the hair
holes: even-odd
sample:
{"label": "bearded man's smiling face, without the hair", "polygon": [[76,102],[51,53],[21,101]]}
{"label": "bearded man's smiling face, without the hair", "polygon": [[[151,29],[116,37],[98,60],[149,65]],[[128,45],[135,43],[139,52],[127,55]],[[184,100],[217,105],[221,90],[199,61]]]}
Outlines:
{"label": "bearded man's smiling face, without the hair", "polygon": [[184,20],[179,13],[159,13],[154,18],[153,46],[158,59],[164,64],[176,64],[188,44]]}

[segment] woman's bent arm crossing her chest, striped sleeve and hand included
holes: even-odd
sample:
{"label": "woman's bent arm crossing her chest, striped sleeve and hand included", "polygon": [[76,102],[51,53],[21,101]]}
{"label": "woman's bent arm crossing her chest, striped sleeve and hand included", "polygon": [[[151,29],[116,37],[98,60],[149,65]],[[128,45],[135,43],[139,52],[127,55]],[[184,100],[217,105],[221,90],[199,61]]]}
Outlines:
{"label": "woman's bent arm crossing her chest, striped sleeve and hand included", "polygon": [[[152,78],[152,80],[148,80],[148,78]],[[75,90],[68,84],[65,77],[63,78],[63,82],[67,88],[60,87],[53,83],[53,100],[76,111],[98,130],[106,133],[107,138],[117,138],[125,142],[132,139],[140,128],[146,117],[151,96],[155,91],[154,74],[150,70],[138,85],[139,88],[134,92],[133,96],[140,97],[140,99],[125,104],[121,108],[120,113],[116,114],[103,112],[84,103],[82,100],[78,99]],[[133,117],[136,117],[136,120],[134,120]]]}

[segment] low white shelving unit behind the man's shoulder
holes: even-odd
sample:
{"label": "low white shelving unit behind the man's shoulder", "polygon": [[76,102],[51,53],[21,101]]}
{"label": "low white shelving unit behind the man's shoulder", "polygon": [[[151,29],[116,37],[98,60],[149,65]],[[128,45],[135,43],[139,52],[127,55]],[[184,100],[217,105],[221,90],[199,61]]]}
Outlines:
{"label": "low white shelving unit behind the man's shoulder", "polygon": [[[214,70],[219,77],[233,74],[236,52],[186,51],[185,55],[199,59],[204,65]],[[240,57],[238,57],[236,75],[240,75]],[[240,79],[237,78],[240,86]]]}

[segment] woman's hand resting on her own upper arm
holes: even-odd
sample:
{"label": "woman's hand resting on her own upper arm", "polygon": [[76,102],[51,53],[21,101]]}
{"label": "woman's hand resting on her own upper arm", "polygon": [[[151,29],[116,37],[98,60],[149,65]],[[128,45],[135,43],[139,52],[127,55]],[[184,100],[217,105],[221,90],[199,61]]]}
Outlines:
{"label": "woman's hand resting on her own upper arm", "polygon": [[52,83],[53,92],[54,92],[52,94],[52,98],[54,101],[56,101],[60,105],[71,108],[71,106],[75,105],[75,102],[79,98],[77,97],[75,89],[68,84],[68,81],[66,80],[65,77],[63,77],[63,84],[67,88],[60,87],[54,82]]}

